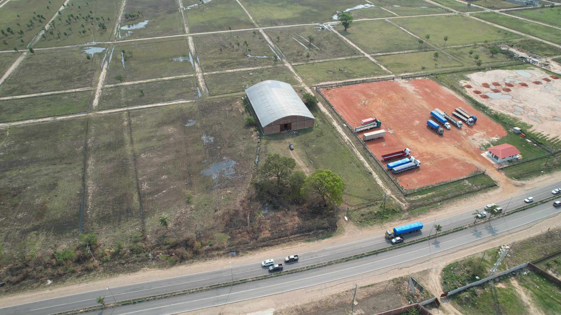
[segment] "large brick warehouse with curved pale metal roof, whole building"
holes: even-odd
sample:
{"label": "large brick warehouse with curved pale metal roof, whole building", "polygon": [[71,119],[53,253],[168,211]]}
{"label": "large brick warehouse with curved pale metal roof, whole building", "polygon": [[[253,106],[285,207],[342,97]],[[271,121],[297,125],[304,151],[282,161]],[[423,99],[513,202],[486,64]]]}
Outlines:
{"label": "large brick warehouse with curved pale metal roof, whole building", "polygon": [[287,83],[263,81],[247,89],[246,95],[264,135],[314,127],[314,115]]}

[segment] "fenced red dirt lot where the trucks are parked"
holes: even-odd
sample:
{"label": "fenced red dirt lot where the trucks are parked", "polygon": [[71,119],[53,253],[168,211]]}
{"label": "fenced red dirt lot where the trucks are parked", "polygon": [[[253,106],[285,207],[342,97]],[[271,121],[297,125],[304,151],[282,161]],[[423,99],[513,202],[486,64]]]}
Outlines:
{"label": "fenced red dirt lot where the trucks are parked", "polygon": [[[464,177],[477,168],[490,166],[477,144],[507,135],[502,126],[427,79],[369,82],[321,92],[351,127],[359,126],[361,119],[368,117],[382,122],[385,137],[366,142],[378,159],[404,147],[411,149],[421,167],[393,175],[405,189]],[[443,136],[426,127],[431,110],[439,108],[451,113],[459,106],[477,116],[475,126],[445,129]]]}

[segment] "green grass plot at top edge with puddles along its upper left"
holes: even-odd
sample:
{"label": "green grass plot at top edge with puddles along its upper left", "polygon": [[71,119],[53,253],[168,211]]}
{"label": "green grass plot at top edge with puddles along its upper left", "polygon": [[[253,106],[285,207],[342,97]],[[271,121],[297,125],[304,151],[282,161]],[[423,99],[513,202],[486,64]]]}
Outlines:
{"label": "green grass plot at top edge with puddles along its upper left", "polygon": [[210,1],[202,4],[198,0],[183,1],[185,21],[190,33],[235,29],[249,29],[253,23],[236,0]]}

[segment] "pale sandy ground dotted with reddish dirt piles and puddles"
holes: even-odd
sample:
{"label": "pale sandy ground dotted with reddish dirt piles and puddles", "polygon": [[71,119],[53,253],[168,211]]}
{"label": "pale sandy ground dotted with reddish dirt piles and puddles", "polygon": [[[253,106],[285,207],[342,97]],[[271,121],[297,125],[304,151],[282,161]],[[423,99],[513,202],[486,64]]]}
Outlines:
{"label": "pale sandy ground dotted with reddish dirt piles and puddles", "polygon": [[[534,126],[534,131],[542,132],[545,135],[559,136],[561,127],[561,79],[555,80],[548,73],[541,70],[491,70],[485,72],[475,72],[467,75],[471,80],[462,81],[462,85],[469,84],[472,89],[464,88],[467,94],[471,95],[481,103],[497,110],[498,112],[511,115],[521,119],[523,122]],[[546,80],[543,80],[543,79]],[[549,82],[548,82],[549,80]],[[513,87],[508,87],[505,82],[509,81]],[[498,82],[500,86],[493,86],[491,82]],[[520,86],[519,83],[528,86]],[[540,82],[534,84],[533,82]],[[489,84],[486,88],[482,84]],[[511,89],[505,92],[502,89]],[[499,94],[495,94],[491,89],[498,89]],[[500,95],[500,99],[481,98],[473,91],[481,91],[480,95]],[[507,99],[508,97],[508,99]]]}

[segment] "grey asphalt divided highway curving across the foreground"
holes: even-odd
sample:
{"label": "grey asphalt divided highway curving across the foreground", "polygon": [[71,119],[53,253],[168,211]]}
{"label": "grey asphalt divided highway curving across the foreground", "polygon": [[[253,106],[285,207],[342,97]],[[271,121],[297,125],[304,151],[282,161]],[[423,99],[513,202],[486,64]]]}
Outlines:
{"label": "grey asphalt divided highway curving across the foreground", "polygon": [[[541,188],[533,189],[518,196],[513,196],[507,200],[495,203],[498,206],[506,209],[516,209],[517,207],[525,205],[524,198],[532,196],[535,201],[548,198],[551,195],[551,190],[561,187],[561,182],[550,184]],[[560,195],[561,199],[561,195]],[[508,205],[508,208],[507,208]],[[477,210],[481,210],[477,209]],[[474,240],[494,237],[497,233],[512,229],[517,226],[522,226],[531,223],[535,220],[540,220],[543,217],[556,214],[561,209],[555,209],[551,203],[545,203],[532,207],[531,209],[518,212],[517,214],[509,215],[505,219],[500,218],[491,221],[490,224],[477,226],[473,229],[458,231],[457,233],[444,235],[438,240],[431,240],[431,252],[436,253],[444,251],[449,248],[465,245]],[[461,226],[472,222],[474,210],[462,212],[453,216],[445,217],[436,220],[436,224],[443,226],[443,230],[451,229],[456,226]],[[406,236],[407,240],[424,237],[429,235],[430,227],[433,221],[426,222],[425,228],[420,233],[410,234]],[[479,231],[476,231],[479,230]],[[330,261],[337,258],[352,256],[354,254],[373,251],[389,246],[388,240],[385,240],[383,235],[376,235],[371,238],[357,240],[352,243],[338,244],[332,247],[323,248],[318,251],[307,253],[287,253],[300,254],[300,262],[285,265],[285,270],[291,268],[314,265],[315,263]],[[203,293],[184,295],[177,298],[163,299],[153,302],[141,303],[137,305],[128,305],[119,307],[114,314],[128,314],[127,312],[138,313],[174,313],[184,312],[193,309],[209,307],[211,305],[220,305],[226,302],[227,294],[232,289],[229,295],[228,303],[237,300],[250,299],[261,297],[264,295],[280,293],[287,290],[303,288],[320,284],[323,282],[341,279],[364,272],[373,271],[379,268],[385,268],[398,263],[415,260],[429,254],[429,247],[427,244],[415,244],[404,248],[398,248],[394,251],[380,253],[374,256],[362,258],[360,260],[353,260],[350,262],[339,263],[337,265],[318,268],[306,272],[299,272],[294,275],[287,275],[275,277],[269,280],[252,282],[250,284],[242,284],[228,288],[206,291]],[[272,257],[263,257],[272,258]],[[282,257],[273,257],[275,261],[282,262]],[[57,312],[68,311],[71,309],[79,309],[96,305],[96,299],[99,296],[105,296],[106,302],[113,302],[113,298],[117,301],[127,300],[132,298],[147,297],[155,294],[168,293],[172,291],[185,290],[190,288],[197,288],[200,286],[217,284],[227,282],[230,280],[245,279],[258,275],[267,274],[265,268],[261,268],[260,262],[255,262],[246,265],[232,266],[232,268],[220,268],[213,271],[201,272],[199,274],[185,275],[172,277],[168,279],[161,279],[155,281],[142,282],[139,284],[118,286],[111,288],[113,295],[109,294],[108,290],[95,290],[86,293],[67,295],[65,297],[38,300],[36,302],[15,305],[12,307],[1,308],[2,314],[52,314]],[[179,304],[177,304],[179,303]],[[153,308],[164,308],[156,311]],[[97,312],[99,313],[99,312]]]}

